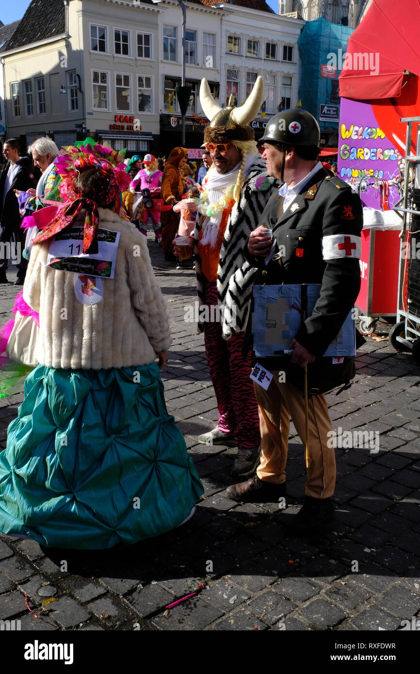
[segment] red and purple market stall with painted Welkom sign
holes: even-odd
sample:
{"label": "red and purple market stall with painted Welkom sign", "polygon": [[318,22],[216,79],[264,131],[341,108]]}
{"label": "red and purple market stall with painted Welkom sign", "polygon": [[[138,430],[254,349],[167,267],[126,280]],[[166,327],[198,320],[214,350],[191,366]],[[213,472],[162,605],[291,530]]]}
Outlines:
{"label": "red and purple market stall with painted Welkom sign", "polygon": [[[338,175],[363,202],[361,293],[363,332],[397,315],[404,200],[405,125],[420,115],[420,5],[373,0],[349,39],[340,83]],[[415,152],[417,124],[409,142]]]}

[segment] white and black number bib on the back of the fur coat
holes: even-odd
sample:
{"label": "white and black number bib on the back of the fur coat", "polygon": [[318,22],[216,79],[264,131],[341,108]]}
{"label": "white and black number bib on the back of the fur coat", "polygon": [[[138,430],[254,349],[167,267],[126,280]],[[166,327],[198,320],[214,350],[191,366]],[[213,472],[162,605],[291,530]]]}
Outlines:
{"label": "white and black number bib on the back of the fur coat", "polygon": [[73,274],[114,278],[121,232],[98,229],[98,252],[93,254],[83,252],[83,235],[83,227],[63,230],[55,235],[47,266]]}

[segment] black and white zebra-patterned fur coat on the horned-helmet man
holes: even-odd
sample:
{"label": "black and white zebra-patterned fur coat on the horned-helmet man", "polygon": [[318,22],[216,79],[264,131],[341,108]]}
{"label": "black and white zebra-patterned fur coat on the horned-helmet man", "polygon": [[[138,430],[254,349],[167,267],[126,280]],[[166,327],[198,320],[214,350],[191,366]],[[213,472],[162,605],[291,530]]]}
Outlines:
{"label": "black and white zebra-patterned fur coat on the horned-helmet man", "polygon": [[[251,164],[249,173],[242,185],[241,199],[233,206],[224,240],[220,250],[217,270],[218,300],[222,305],[223,338],[229,340],[235,332],[243,332],[249,313],[253,280],[257,270],[245,260],[243,246],[251,231],[258,227],[261,214],[277,188],[275,178],[268,177],[266,162],[259,154]],[[199,305],[204,304],[204,281],[201,272],[201,259],[198,255],[198,233],[204,218],[196,224],[196,277]],[[198,330],[204,330],[204,323],[198,323]]]}

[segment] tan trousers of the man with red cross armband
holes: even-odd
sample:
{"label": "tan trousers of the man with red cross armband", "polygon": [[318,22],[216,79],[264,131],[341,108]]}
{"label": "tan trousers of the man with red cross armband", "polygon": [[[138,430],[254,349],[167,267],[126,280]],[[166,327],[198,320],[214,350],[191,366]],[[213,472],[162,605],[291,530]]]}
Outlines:
{"label": "tan trousers of the man with red cross armband", "polygon": [[[281,484],[286,479],[290,417],[305,444],[305,400],[293,384],[278,381],[278,370],[271,373],[273,378],[267,391],[254,384],[261,431],[261,464],[257,474],[263,481]],[[309,398],[310,462],[305,495],[316,499],[326,499],[334,493],[336,461],[334,448],[327,446],[327,433],[331,429],[325,397],[312,396]]]}

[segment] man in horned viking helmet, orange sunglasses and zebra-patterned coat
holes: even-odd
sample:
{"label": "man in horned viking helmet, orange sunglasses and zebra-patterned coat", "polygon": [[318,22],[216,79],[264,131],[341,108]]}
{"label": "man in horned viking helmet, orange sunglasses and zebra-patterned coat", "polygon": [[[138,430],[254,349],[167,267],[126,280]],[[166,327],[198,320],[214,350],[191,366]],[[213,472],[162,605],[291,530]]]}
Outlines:
{"label": "man in horned viking helmet, orange sunglasses and zebra-patterned coat", "polygon": [[198,437],[207,444],[237,446],[231,474],[250,475],[260,462],[260,423],[253,392],[251,355],[244,348],[249,296],[256,270],[245,260],[243,246],[258,220],[274,178],[266,173],[249,127],[264,96],[261,77],[239,108],[221,108],[206,80],[200,102],[210,125],[204,146],[213,166],[203,181],[204,193],[194,232],[200,331],[216,393],[218,425]]}

